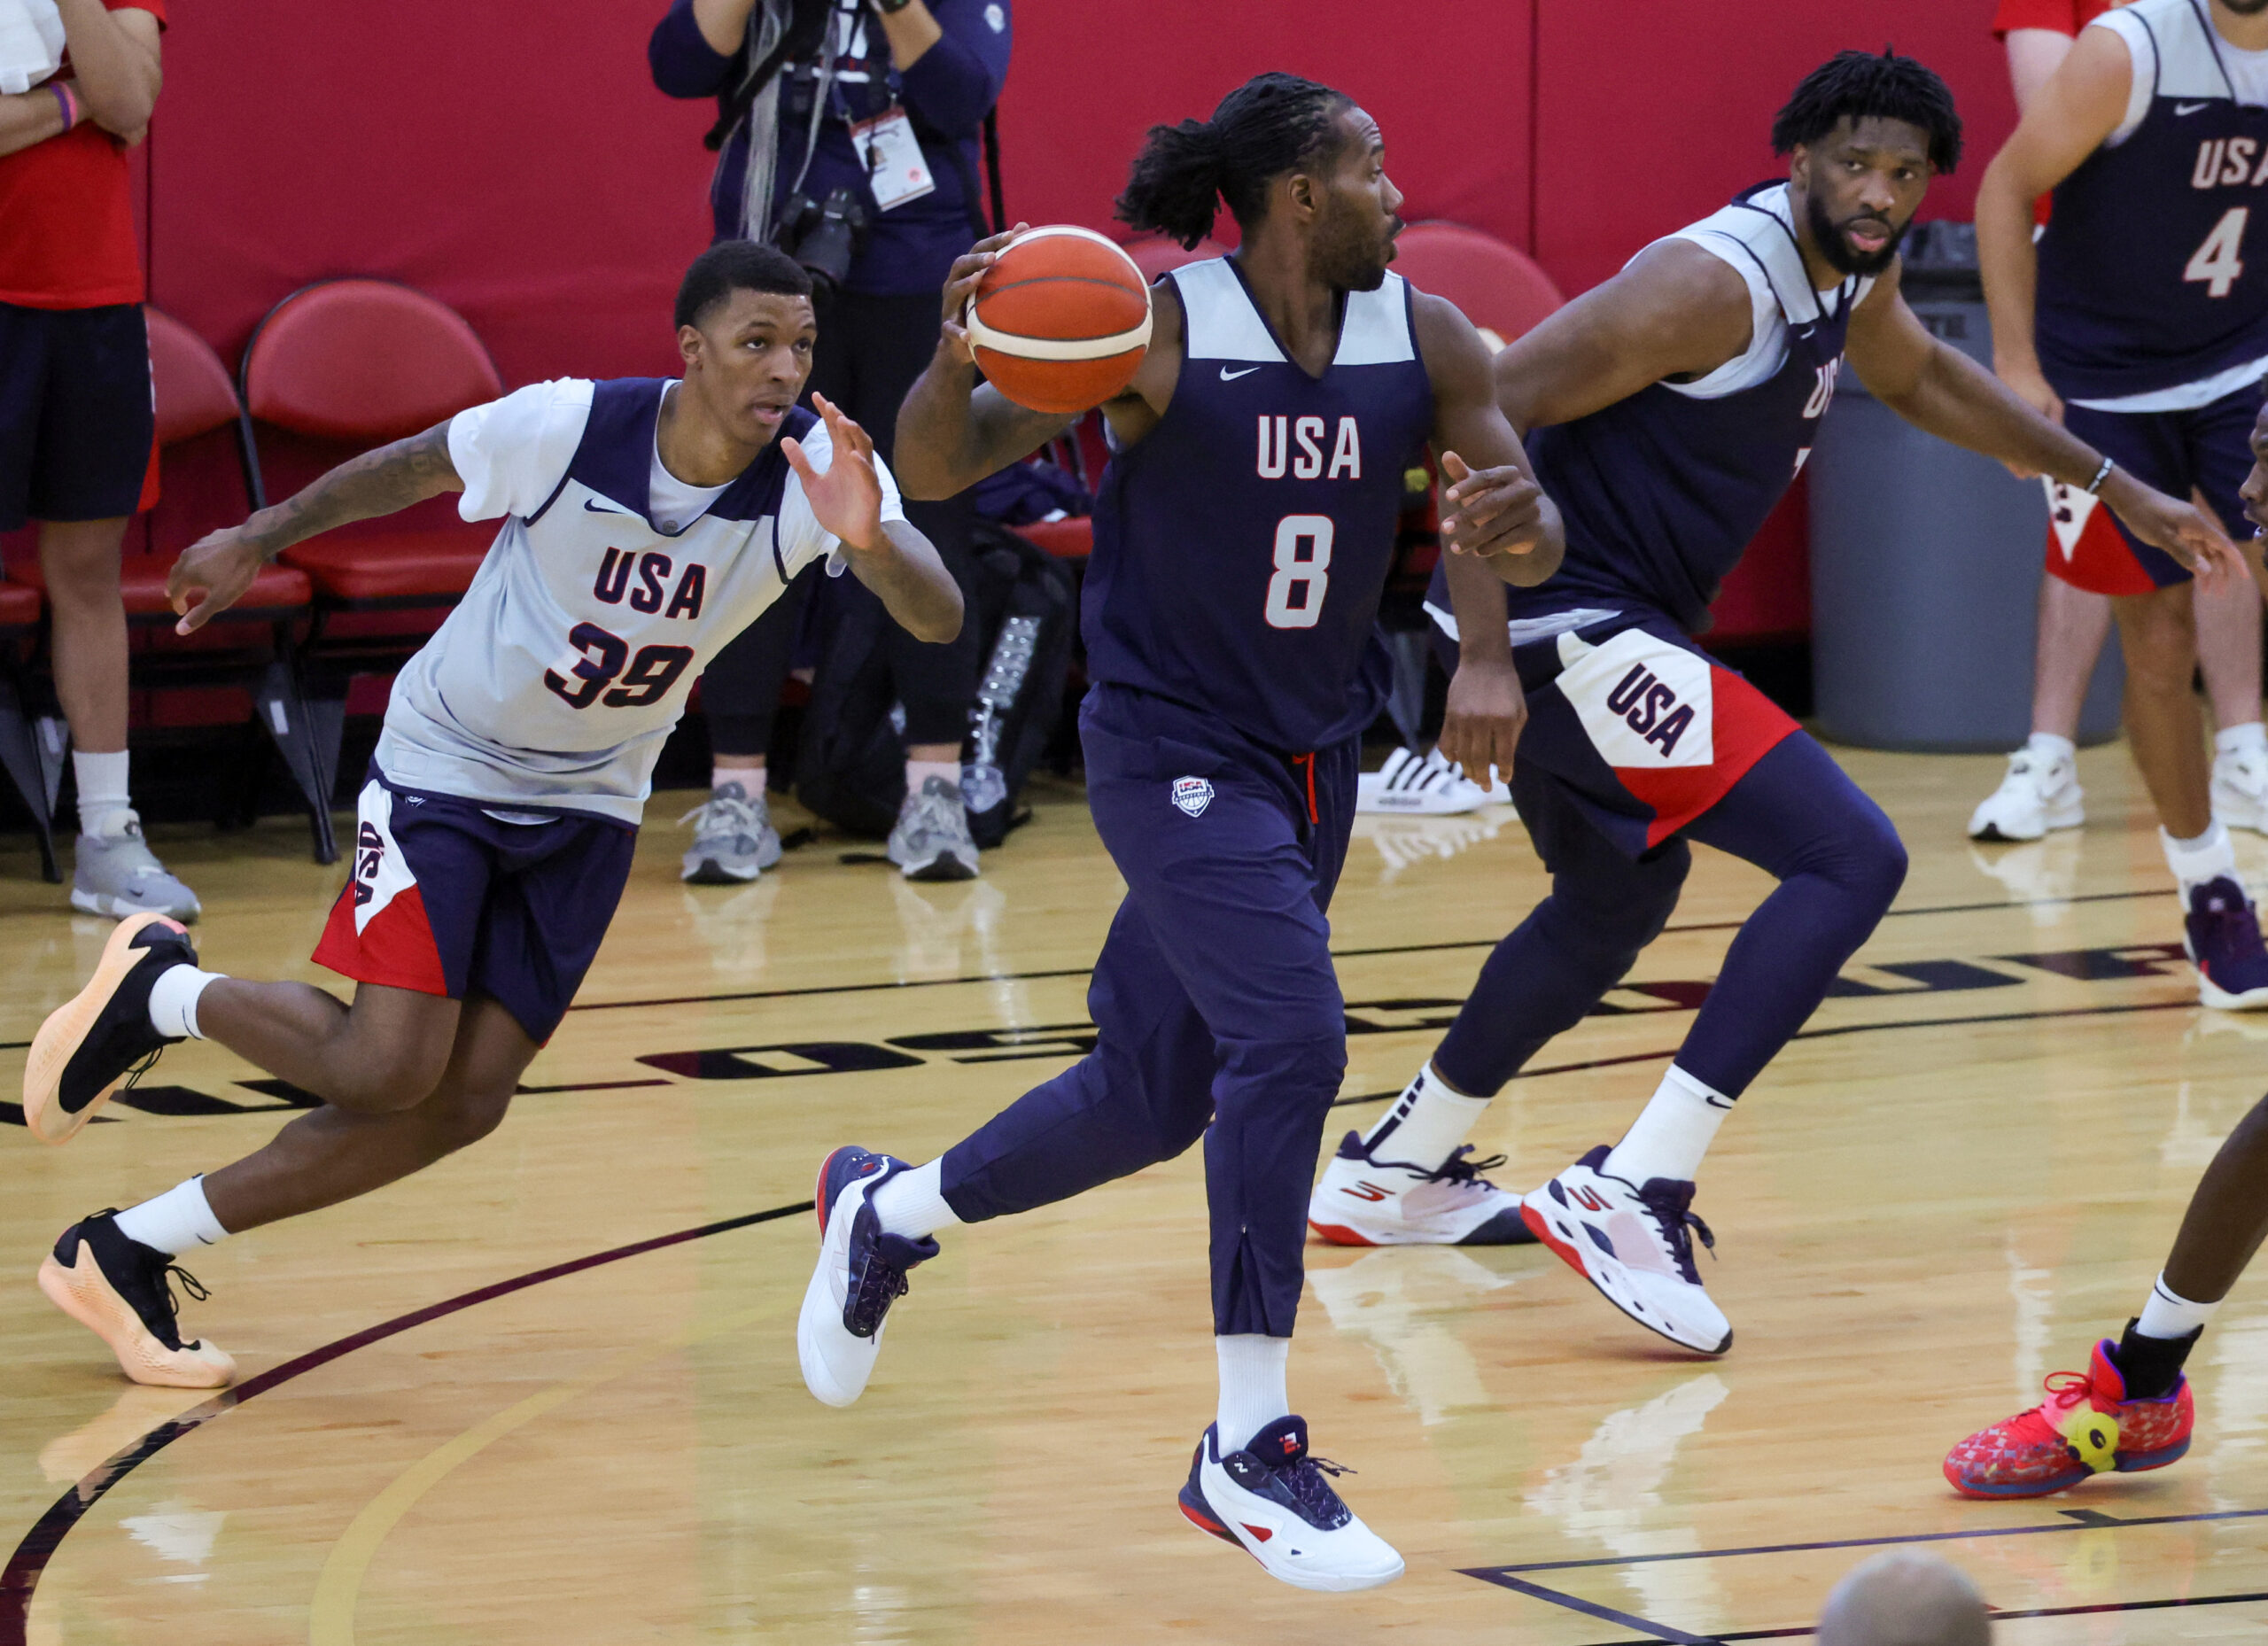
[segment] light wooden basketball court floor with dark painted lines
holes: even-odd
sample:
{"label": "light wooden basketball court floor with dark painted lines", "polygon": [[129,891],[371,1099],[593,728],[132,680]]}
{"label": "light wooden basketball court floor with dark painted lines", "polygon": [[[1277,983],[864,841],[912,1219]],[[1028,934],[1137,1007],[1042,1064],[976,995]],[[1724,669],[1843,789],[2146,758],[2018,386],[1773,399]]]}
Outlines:
{"label": "light wooden basketball court floor with dark painted lines", "polygon": [[[1077,794],[975,884],[821,843],[723,891],[676,882],[692,796],[660,796],[497,1136],[195,1258],[231,1397],[122,1383],[32,1270],[73,1217],[263,1140],[290,1093],[188,1045],[68,1149],[0,1127],[0,1646],[1794,1639],[1903,1544],[1975,1573],[2019,1646],[2254,1639],[2268,1276],[2191,1367],[2173,1469],[1966,1503],[1937,1465],[2139,1306],[2268,1086],[2268,1018],[2195,1007],[2121,748],[2080,757],[2084,834],[1994,852],[1960,828],[1998,762],[1844,757],[1914,873],[1710,1156],[1730,1356],[1672,1351],[1540,1247],[1311,1247],[1293,1403],[1408,1558],[1390,1589],[1297,1594],[1175,1512],[1213,1403],[1198,1154],[950,1238],[857,1408],[798,1381],[819,1156],[923,1159],[1084,1045],[1118,882]],[[211,966],[327,977],[304,957],[340,871],[302,839],[161,841]],[[2239,855],[2268,882],[2268,841]],[[1631,986],[1488,1113],[1499,1179],[1613,1140],[1653,1088],[1765,889],[1696,857]],[[107,927],[27,850],[0,873],[20,1047]],[[1540,886],[1508,814],[1363,823],[1334,1143]]]}

